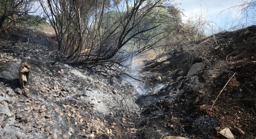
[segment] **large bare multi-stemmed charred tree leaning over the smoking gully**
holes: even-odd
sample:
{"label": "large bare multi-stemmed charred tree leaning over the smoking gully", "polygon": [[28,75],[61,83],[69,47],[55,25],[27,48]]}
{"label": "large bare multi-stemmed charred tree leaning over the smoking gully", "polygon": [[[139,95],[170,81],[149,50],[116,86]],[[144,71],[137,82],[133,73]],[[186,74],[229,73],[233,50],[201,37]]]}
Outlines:
{"label": "large bare multi-stemmed charred tree leaning over the smoking gully", "polygon": [[163,0],[40,0],[55,30],[55,56],[73,65],[129,65],[128,59],[167,46],[172,6]]}

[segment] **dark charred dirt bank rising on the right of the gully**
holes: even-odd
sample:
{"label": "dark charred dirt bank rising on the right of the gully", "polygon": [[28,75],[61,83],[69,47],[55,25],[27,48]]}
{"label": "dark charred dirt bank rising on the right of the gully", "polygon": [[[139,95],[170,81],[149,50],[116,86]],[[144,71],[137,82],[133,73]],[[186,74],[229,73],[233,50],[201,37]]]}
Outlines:
{"label": "dark charred dirt bank rising on the right of the gully", "polygon": [[[155,73],[151,74],[155,81],[161,76],[163,83],[173,83],[163,91],[169,93],[165,99],[142,112],[145,120],[141,122],[141,138],[157,138],[163,134],[222,138],[218,132],[226,127],[235,137],[256,136],[256,26],[222,32],[216,34],[215,39],[197,42],[208,49],[208,53],[193,61],[192,64],[201,62],[206,66],[192,76],[186,76],[191,61],[187,60],[186,52],[180,50],[170,53],[169,61],[155,67],[164,67],[162,70],[144,71],[144,76]],[[176,69],[173,75],[166,75],[167,70]],[[179,75],[179,71],[183,73]],[[234,73],[236,75],[211,107]],[[181,75],[185,77],[176,81]],[[237,128],[245,135],[239,134]]]}

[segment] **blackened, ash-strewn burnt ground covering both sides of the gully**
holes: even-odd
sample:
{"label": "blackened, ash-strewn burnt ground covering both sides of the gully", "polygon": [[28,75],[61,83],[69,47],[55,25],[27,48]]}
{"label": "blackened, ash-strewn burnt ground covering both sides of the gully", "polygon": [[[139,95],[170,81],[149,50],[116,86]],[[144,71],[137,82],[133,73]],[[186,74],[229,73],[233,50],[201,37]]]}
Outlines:
{"label": "blackened, ash-strewn burnt ground covering both sides of the gully", "polygon": [[[0,113],[10,111],[16,118],[6,120],[6,116],[0,116],[0,120],[5,118],[3,121],[6,123],[6,127],[0,130],[4,135],[0,138],[15,137],[13,133],[17,131],[25,137],[38,138],[54,138],[54,133],[57,133],[58,138],[65,138],[65,135],[68,138],[85,138],[90,134],[94,135],[90,138],[222,138],[218,132],[226,127],[236,138],[256,137],[256,26],[235,32],[221,32],[214,37],[194,42],[204,46],[208,53],[193,61],[188,61],[190,52],[174,49],[166,54],[168,61],[155,69],[142,70],[141,74],[145,79],[159,82],[157,77],[160,76],[160,83],[166,84],[158,94],[147,94],[146,97],[152,101],[146,103],[141,103],[141,96],[134,88],[114,73],[96,74],[94,70],[71,67],[61,62],[49,67],[48,51],[40,51],[49,48],[48,44],[54,48],[55,42],[51,40],[42,44],[40,42],[43,42],[43,34],[31,34],[31,40],[34,39],[33,43],[38,46],[29,53],[26,53],[29,48],[22,53],[18,48],[12,49],[14,40],[23,39],[23,42],[18,42],[22,44],[26,40],[24,36],[28,34],[13,35],[11,40],[1,39],[0,53],[6,53],[12,58],[0,61],[0,106],[5,106]],[[51,39],[50,36],[45,37]],[[217,46],[219,48],[215,49]],[[28,62],[32,67],[29,96],[14,93],[19,88],[16,74],[22,61]],[[206,66],[192,76],[186,76],[191,64],[196,62]],[[167,74],[168,70],[177,71]],[[236,75],[212,107],[234,73]],[[176,80],[179,76],[184,78]],[[45,84],[50,91],[47,91]],[[59,86],[59,91],[56,91],[56,85]],[[154,83],[149,85],[154,86]],[[7,93],[7,90],[11,93]],[[38,119],[28,119],[31,113],[38,113],[39,120],[44,119],[41,109],[31,110],[31,113],[17,112],[17,109],[24,109],[29,105],[24,103],[26,99],[31,101],[28,101],[31,106],[47,106],[45,111],[51,118],[46,118],[44,125],[35,125]],[[56,112],[56,108],[59,108],[59,112]],[[69,116],[72,109],[79,112],[81,117]],[[17,118],[19,114],[24,118]],[[52,125],[50,121],[55,124]],[[12,126],[13,123],[32,126],[32,129]],[[45,131],[48,126],[49,131]],[[236,127],[243,130],[245,135],[239,134]],[[105,128],[111,129],[112,133],[107,133]],[[72,135],[69,136],[68,132]]]}

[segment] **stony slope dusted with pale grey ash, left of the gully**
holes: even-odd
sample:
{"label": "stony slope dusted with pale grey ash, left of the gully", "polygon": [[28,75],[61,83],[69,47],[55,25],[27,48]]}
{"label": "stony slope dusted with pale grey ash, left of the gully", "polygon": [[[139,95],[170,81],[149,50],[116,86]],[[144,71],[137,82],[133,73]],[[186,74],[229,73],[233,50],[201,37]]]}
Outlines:
{"label": "stony slope dusted with pale grey ash, left of the gully", "polygon": [[[115,74],[94,74],[55,63],[39,53],[20,53],[1,40],[0,138],[129,137],[124,124],[138,119],[140,108],[131,85]],[[20,89],[18,69],[31,66],[29,86]],[[22,94],[21,94],[22,93]],[[130,117],[130,118],[129,118]]]}

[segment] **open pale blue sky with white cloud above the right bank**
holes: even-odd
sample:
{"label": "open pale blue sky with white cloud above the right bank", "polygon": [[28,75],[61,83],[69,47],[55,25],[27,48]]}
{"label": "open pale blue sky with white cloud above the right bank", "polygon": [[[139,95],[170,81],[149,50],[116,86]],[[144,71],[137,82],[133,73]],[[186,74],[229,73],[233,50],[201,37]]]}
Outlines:
{"label": "open pale blue sky with white cloud above the right bank", "polygon": [[207,21],[214,22],[211,23],[213,28],[217,29],[219,26],[223,30],[229,30],[241,18],[237,9],[227,9],[239,4],[240,0],[175,0],[174,2],[179,3],[178,7],[184,10],[183,22],[189,18],[196,20],[198,15],[201,15]]}

